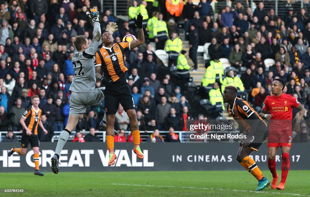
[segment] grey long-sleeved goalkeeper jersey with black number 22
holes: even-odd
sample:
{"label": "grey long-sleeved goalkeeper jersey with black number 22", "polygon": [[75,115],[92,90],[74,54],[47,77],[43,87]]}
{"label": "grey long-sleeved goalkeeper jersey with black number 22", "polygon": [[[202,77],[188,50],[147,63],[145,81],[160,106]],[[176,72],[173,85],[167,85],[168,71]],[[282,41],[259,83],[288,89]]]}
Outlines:
{"label": "grey long-sleeved goalkeeper jersey with black number 22", "polygon": [[100,23],[94,23],[94,35],[89,47],[72,55],[74,77],[69,88],[72,92],[95,92],[95,52],[101,44]]}

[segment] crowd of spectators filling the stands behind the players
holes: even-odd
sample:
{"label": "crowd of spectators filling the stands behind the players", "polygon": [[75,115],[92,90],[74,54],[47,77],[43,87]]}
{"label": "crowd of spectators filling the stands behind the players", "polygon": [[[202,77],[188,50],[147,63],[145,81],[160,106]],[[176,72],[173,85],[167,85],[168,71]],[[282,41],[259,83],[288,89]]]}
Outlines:
{"label": "crowd of spectators filling the stands behind the players", "polygon": [[[284,92],[298,98],[305,106],[304,119],[309,119],[310,105],[310,18],[305,9],[293,10],[288,6],[287,15],[278,17],[275,10],[266,10],[263,2],[256,2],[251,10],[240,2],[232,7],[215,10],[211,0],[154,0],[137,2],[128,9],[129,21],[117,20],[118,31],[113,34],[121,42],[127,34],[137,35],[133,20],[141,13],[146,43],[129,51],[126,58],[128,84],[132,88],[139,129],[154,131],[147,141],[161,142],[158,131],[169,131],[165,141],[178,141],[175,131],[186,131],[187,119],[198,117],[197,105],[192,107],[191,96],[184,94],[184,83],[190,78],[189,70],[197,71],[197,49],[210,43],[206,74],[202,78],[201,98],[224,110],[221,92],[225,85],[235,85],[248,95],[248,101],[260,111],[262,102],[271,95],[274,78],[287,82]],[[290,4],[288,4],[290,5]],[[77,35],[92,37],[92,22],[86,16],[91,7],[99,8],[98,0],[11,0],[0,1],[0,131],[20,131],[21,115],[30,105],[30,98],[39,95],[43,110],[42,122],[49,131],[42,132],[42,141],[51,141],[54,131],[62,131],[69,116],[69,91],[75,70],[71,56],[76,51],[73,41]],[[217,13],[215,18],[214,13]],[[115,22],[111,11],[100,13],[101,30]],[[189,51],[182,50],[178,24],[184,24]],[[89,39],[89,43],[91,39]],[[155,43],[153,47],[151,43]],[[177,68],[177,78],[169,69],[163,69],[155,50],[169,54],[169,67]],[[188,65],[186,53],[193,60]],[[213,75],[220,58],[227,58],[232,70]],[[272,58],[275,65],[267,68],[264,60]],[[213,71],[211,67],[213,66]],[[241,67],[245,67],[240,71]],[[220,70],[220,69],[219,69]],[[239,72],[240,71],[240,72]],[[241,74],[242,73],[242,74]],[[208,75],[210,74],[210,75]],[[226,74],[226,75],[225,75]],[[211,77],[210,77],[211,76]],[[223,79],[223,78],[224,79]],[[100,81],[96,87],[101,87]],[[184,92],[185,91],[185,92]],[[221,100],[222,99],[222,100]],[[295,113],[296,114],[296,113]],[[294,114],[294,116],[295,116]],[[81,114],[74,141],[98,141],[95,131],[104,116],[104,101],[99,107],[89,106]],[[201,115],[204,119],[206,116]],[[293,116],[293,117],[294,117]],[[116,141],[130,141],[129,118],[120,105],[116,114]],[[308,138],[308,125],[304,137]],[[128,129],[129,128],[129,129]],[[90,131],[85,137],[80,133]],[[11,137],[8,132],[6,138]],[[10,136],[10,137],[9,137]],[[8,140],[10,140],[8,139]]]}

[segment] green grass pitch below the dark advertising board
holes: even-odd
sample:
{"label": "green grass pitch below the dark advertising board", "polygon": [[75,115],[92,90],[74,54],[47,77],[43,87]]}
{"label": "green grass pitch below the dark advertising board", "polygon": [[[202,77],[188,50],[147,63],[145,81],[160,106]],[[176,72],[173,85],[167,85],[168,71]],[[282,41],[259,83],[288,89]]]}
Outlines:
{"label": "green grass pitch below the dark advertising board", "polygon": [[[61,170],[61,168],[60,168]],[[243,171],[0,173],[0,188],[25,189],[0,196],[309,196],[310,171],[290,171],[285,190],[255,192]],[[263,171],[271,181],[269,171]],[[278,171],[281,177],[281,171]],[[280,180],[278,181],[278,183]]]}

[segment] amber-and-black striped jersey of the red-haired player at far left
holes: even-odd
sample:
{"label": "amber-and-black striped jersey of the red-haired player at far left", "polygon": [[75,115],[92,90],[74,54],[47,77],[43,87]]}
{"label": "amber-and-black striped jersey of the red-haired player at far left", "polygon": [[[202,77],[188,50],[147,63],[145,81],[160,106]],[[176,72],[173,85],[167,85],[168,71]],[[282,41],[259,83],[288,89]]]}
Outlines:
{"label": "amber-and-black striped jersey of the red-haired player at far left", "polygon": [[33,106],[28,107],[27,110],[22,115],[22,117],[26,119],[25,121],[26,126],[34,135],[38,135],[38,125],[39,125],[39,120],[41,119],[41,115],[42,115],[42,110],[38,108],[38,110],[36,111],[33,108]]}

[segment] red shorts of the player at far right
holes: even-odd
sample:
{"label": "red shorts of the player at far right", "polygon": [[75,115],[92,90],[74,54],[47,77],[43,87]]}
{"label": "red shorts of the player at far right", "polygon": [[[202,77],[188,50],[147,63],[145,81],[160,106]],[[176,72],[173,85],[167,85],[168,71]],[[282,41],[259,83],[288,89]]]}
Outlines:
{"label": "red shorts of the player at far right", "polygon": [[292,146],[293,132],[289,130],[269,131],[267,147]]}

